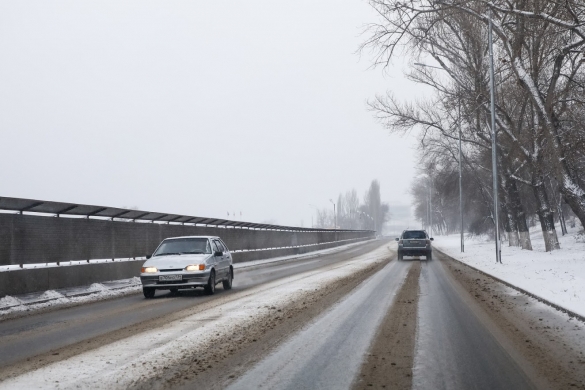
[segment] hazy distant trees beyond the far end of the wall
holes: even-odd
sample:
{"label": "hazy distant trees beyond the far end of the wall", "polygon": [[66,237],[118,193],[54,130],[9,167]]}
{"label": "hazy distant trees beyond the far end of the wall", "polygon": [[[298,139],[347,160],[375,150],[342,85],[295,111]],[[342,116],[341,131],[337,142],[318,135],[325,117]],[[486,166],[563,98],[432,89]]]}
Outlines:
{"label": "hazy distant trees beyond the far end of the wall", "polygon": [[378,180],[372,181],[361,202],[355,189],[339,194],[335,203],[335,212],[334,214],[333,205],[317,210],[315,227],[333,228],[337,216],[339,229],[366,229],[381,232],[384,223],[390,219],[388,204],[380,199]]}

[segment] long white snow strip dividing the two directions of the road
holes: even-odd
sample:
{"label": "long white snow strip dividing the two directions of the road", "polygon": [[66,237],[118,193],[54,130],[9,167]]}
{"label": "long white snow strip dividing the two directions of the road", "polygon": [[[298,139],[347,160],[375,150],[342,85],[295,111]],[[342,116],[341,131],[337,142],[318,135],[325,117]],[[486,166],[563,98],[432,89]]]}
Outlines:
{"label": "long white snow strip dividing the two directions of the road", "polygon": [[137,379],[155,377],[165,366],[209,348],[217,338],[238,334],[238,329],[273,313],[271,308],[303,300],[328,284],[381,261],[387,254],[384,246],[331,265],[326,271],[314,270],[220,295],[203,303],[201,308],[205,310],[197,314],[7,379],[0,382],[0,389],[128,388]]}

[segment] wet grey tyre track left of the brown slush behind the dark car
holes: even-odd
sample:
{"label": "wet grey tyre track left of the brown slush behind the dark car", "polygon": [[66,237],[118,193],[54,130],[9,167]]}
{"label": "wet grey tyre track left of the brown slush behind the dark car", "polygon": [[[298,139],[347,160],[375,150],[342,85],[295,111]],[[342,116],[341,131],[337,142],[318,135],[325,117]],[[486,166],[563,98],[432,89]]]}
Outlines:
{"label": "wet grey tyre track left of the brown slush behind the dark car", "polygon": [[229,389],[347,387],[409,267],[406,262],[389,263]]}

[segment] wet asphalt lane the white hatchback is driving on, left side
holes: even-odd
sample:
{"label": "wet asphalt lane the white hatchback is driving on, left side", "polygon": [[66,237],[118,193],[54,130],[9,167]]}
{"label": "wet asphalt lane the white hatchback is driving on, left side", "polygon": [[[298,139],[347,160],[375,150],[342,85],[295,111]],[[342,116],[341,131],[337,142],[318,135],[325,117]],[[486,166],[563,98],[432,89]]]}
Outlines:
{"label": "wet asphalt lane the white hatchback is driving on, left side", "polygon": [[[233,289],[221,286],[216,296],[233,294],[268,281],[318,269],[370,252],[380,241],[311,258],[268,263],[235,271]],[[157,291],[154,299],[142,294],[95,302],[0,322],[0,368],[59,348],[90,340],[138,323],[176,314],[214,299],[202,289],[178,295]]]}

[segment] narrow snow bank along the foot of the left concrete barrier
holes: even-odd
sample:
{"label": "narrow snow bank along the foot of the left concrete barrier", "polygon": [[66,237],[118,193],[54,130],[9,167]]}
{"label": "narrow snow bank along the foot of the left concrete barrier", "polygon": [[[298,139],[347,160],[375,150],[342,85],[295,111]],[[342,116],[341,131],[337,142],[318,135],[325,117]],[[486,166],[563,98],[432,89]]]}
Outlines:
{"label": "narrow snow bank along the foot of the left concrete barrier", "polygon": [[[318,251],[307,252],[302,255],[280,256],[265,260],[252,260],[242,263],[234,264],[234,268],[247,268],[258,266],[266,263],[273,263],[277,261],[286,261],[292,259],[310,258],[315,256],[323,256],[340,252],[356,245],[361,245],[364,242],[354,242],[334,248],[322,249]],[[13,272],[19,272],[13,271]],[[127,294],[137,294],[142,291],[142,284],[140,278],[134,277],[123,280],[113,280],[109,282],[94,283],[90,286],[80,286],[72,288],[64,288],[59,290],[41,291],[37,293],[23,294],[19,296],[5,296],[0,298],[0,319],[15,312],[33,312],[43,309],[55,309],[58,307],[66,307],[79,305],[89,302],[100,301],[104,299],[115,298]]]}

